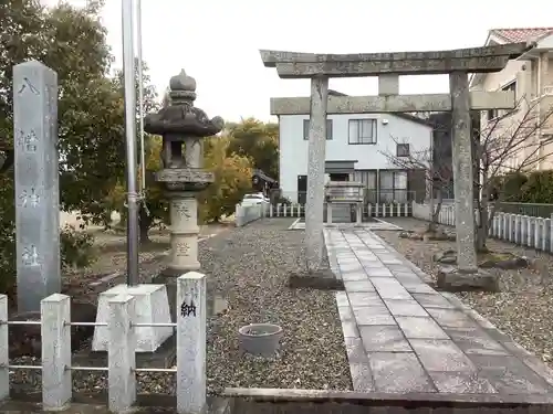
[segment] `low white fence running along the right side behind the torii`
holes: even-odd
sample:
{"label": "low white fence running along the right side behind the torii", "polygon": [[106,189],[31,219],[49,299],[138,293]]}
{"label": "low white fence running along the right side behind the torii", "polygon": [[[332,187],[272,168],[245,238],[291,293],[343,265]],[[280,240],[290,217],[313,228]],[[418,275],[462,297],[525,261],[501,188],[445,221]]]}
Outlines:
{"label": "low white fence running along the right side behind the torii", "polygon": [[[413,216],[430,221],[430,205],[413,203]],[[478,215],[476,216],[478,217]],[[438,222],[445,225],[455,225],[455,205],[442,205]],[[551,219],[497,212],[489,235],[504,242],[553,253],[552,223]]]}

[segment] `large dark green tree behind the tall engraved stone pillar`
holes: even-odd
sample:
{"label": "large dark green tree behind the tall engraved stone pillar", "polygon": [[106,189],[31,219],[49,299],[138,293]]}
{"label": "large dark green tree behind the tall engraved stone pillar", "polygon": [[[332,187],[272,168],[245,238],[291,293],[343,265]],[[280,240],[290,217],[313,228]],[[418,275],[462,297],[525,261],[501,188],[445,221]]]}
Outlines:
{"label": "large dark green tree behind the tall engraved stone pillar", "polygon": [[[13,148],[12,67],[38,60],[56,71],[60,86],[62,208],[82,210],[97,222],[106,221],[102,200],[124,173],[125,153],[123,97],[108,77],[113,57],[101,7],[102,1],[82,9],[64,3],[44,8],[39,0],[0,2],[0,148]],[[0,181],[0,284],[7,291],[14,276],[12,170]]]}

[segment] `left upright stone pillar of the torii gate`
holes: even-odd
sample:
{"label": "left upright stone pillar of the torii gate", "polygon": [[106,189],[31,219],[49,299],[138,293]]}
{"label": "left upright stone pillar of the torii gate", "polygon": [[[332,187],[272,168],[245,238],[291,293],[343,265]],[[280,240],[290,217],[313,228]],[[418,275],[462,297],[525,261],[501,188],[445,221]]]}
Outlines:
{"label": "left upright stone pillar of the torii gate", "polygon": [[324,247],[324,161],[326,152],[326,107],[328,78],[311,78],[309,128],[307,201],[305,205],[306,262],[316,270],[323,262]]}

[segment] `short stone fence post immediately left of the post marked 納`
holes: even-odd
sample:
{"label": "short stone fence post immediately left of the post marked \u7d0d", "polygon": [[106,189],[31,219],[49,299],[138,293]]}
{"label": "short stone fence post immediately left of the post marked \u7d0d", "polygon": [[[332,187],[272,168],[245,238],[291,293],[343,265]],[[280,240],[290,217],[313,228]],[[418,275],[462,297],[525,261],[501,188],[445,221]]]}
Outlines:
{"label": "short stone fence post immediately left of the post marked \u7d0d", "polygon": [[122,294],[109,299],[107,380],[109,411],[128,412],[136,402],[135,298]]}

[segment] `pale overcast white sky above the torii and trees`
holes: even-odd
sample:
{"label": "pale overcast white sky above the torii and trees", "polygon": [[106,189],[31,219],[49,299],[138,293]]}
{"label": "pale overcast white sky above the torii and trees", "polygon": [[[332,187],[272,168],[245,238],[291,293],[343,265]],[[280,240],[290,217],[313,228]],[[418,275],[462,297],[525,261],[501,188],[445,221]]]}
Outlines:
{"label": "pale overcast white sky above the torii and trees", "polygon": [[[46,0],[55,2],[56,0]],[[85,0],[70,0],[81,6]],[[102,20],[122,66],[122,0]],[[553,26],[551,0],[142,0],[143,57],[158,93],[185,68],[209,117],[274,120],[270,97],[307,96],[309,79],[281,79],[260,49],[313,53],[482,46],[494,28]],[[331,78],[349,95],[377,94],[376,77]],[[399,93],[444,93],[446,76],[401,76]]]}

